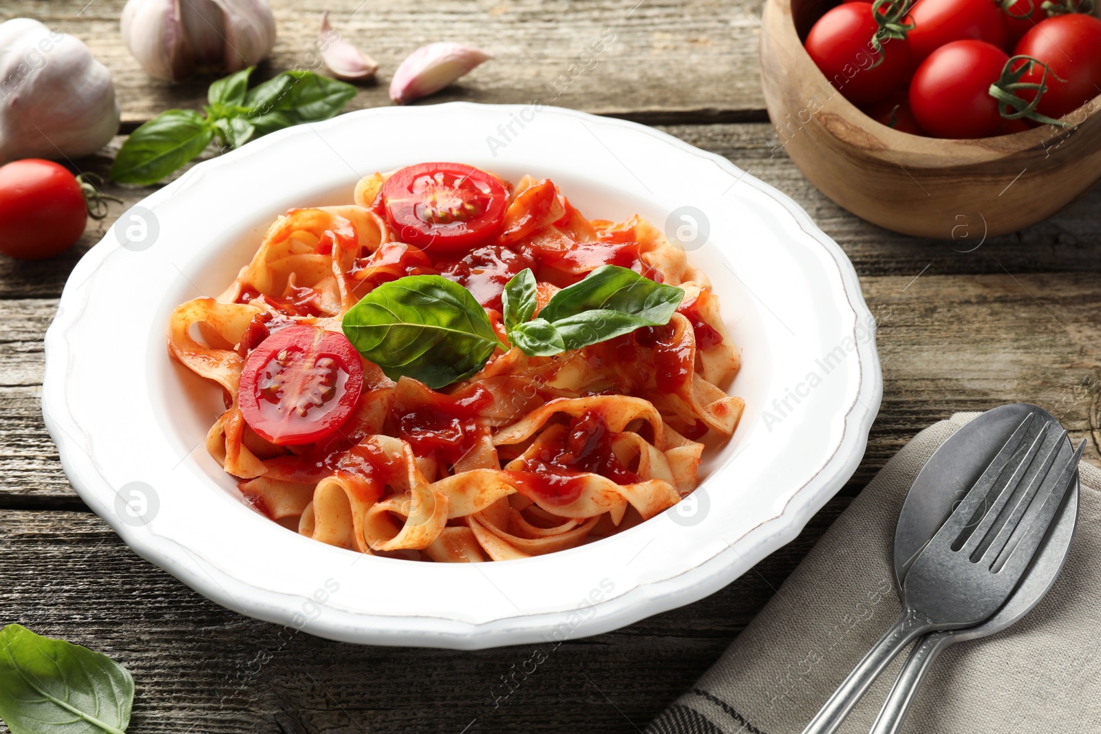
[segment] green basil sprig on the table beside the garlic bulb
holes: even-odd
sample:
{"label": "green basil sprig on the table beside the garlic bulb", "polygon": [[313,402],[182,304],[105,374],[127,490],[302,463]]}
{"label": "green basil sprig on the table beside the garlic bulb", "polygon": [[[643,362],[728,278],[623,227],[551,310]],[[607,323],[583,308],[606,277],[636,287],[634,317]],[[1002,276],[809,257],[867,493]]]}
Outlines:
{"label": "green basil sprig on the table beside the garlic bulb", "polygon": [[313,72],[283,72],[249,89],[250,66],[218,79],[207,90],[205,114],[168,110],[134,130],[122,144],[111,178],[120,184],[155,184],[196,157],[215,138],[240,147],[270,132],[335,117],[356,87]]}

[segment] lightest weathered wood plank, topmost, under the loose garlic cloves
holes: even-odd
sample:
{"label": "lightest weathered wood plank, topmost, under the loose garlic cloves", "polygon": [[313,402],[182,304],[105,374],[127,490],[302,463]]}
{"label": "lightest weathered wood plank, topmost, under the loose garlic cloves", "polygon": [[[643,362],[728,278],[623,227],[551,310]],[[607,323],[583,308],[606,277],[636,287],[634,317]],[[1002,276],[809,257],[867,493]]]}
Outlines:
{"label": "lightest weathered wood plank, topmost, under the loose garlic cloves", "polygon": [[[9,0],[0,20],[30,17],[88,44],[112,74],[128,128],[172,107],[198,109],[218,75],[170,84],[150,77],[122,42],[126,0]],[[279,39],[257,70],[318,67],[319,7],[272,0]],[[341,35],[379,62],[348,109],[390,105],[401,61],[434,41],[478,45],[495,58],[432,101],[547,105],[648,121],[761,118],[760,0],[335,0],[326,8]],[[599,44],[601,40],[609,41]],[[593,46],[593,43],[598,43]],[[599,53],[592,53],[600,48]]]}

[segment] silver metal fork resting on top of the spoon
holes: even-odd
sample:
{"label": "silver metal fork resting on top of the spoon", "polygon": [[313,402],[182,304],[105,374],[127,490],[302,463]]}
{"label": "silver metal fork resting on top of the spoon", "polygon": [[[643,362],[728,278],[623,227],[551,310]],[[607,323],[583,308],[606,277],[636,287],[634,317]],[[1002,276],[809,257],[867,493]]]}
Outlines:
{"label": "silver metal fork resting on top of the spoon", "polygon": [[[1038,423],[1029,414],[1017,426],[918,555],[903,582],[898,620],[803,734],[836,732],[883,668],[915,637],[979,624],[1013,592],[1062,502],[1080,454],[1079,449],[1072,457],[1060,458],[1066,445],[1062,431],[1062,438],[1040,457],[1051,423],[1043,427]],[[1017,494],[1023,482],[1024,492]],[[1005,512],[1015,495],[1016,503]]]}

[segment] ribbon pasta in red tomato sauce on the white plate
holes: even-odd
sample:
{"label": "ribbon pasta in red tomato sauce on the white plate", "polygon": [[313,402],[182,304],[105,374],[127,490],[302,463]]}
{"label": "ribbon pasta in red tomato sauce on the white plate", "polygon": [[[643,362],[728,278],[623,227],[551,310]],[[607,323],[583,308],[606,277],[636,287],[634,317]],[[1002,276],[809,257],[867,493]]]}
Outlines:
{"label": "ribbon pasta in red tomato sauce on the white plate", "polygon": [[[684,251],[639,217],[586,219],[548,180],[524,176],[512,186],[478,173],[491,185],[476,180],[480,188],[458,208],[424,199],[410,209],[433,231],[461,232],[461,247],[443,238],[414,244],[424,232],[403,227],[400,204],[384,197],[391,175],[373,174],[352,204],[280,217],[222,294],[173,311],[172,355],[225,397],[206,448],[258,512],[363,554],[438,562],[538,556],[671,507],[696,489],[700,439],[734,431],[744,403],[722,386],[738,372],[739,351],[707,276]],[[500,202],[491,200],[497,187]],[[490,227],[479,232],[484,217]],[[448,249],[437,247],[445,241]],[[555,294],[609,264],[684,292],[666,324],[550,355],[510,347],[502,293],[514,275],[535,275],[537,319]],[[367,294],[423,275],[462,285],[497,336],[484,365],[446,387],[388,376],[342,332]],[[294,331],[303,326],[310,329]],[[339,341],[317,347],[336,357],[305,363],[310,370],[286,349],[259,357],[299,332],[315,346]],[[299,432],[275,436],[257,410],[282,410],[279,425]]]}

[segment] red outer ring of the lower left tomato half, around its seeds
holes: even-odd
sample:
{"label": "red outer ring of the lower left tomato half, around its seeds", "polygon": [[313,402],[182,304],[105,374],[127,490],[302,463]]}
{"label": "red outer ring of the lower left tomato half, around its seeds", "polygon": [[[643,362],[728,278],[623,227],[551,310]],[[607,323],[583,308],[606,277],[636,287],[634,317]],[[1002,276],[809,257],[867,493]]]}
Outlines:
{"label": "red outer ring of the lower left tomato half, around its seeds", "polygon": [[[292,417],[280,421],[272,420],[271,412],[274,408],[262,402],[264,398],[260,396],[260,373],[282,349],[335,358],[338,369],[347,375],[344,392],[333,398],[335,404],[320,415],[315,414],[313,419],[294,420]],[[277,446],[302,446],[335,432],[351,415],[362,388],[363,364],[359,352],[342,333],[325,331],[315,326],[288,326],[261,341],[244,361],[238,386],[238,403],[244,421],[258,436]],[[298,396],[286,397],[293,399]]]}

